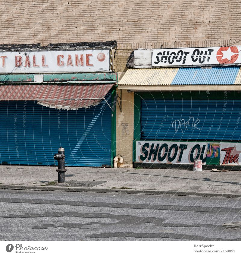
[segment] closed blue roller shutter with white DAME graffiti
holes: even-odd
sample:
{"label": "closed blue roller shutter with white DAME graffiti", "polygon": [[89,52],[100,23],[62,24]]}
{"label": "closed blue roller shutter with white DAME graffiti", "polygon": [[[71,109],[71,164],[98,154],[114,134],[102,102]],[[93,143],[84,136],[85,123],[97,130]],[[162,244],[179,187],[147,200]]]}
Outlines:
{"label": "closed blue roller shutter with white DAME graffiti", "polygon": [[142,100],[141,138],[240,140],[240,117],[241,100]]}

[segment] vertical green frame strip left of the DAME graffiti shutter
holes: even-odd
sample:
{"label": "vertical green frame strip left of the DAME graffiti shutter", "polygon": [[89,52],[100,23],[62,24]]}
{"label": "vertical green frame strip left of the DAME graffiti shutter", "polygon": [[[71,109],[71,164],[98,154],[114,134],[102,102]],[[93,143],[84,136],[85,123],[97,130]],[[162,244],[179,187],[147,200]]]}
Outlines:
{"label": "vertical green frame strip left of the DAME graffiti shutter", "polygon": [[141,137],[141,97],[140,93],[134,93],[134,139],[133,139],[133,162],[136,161],[136,141]]}

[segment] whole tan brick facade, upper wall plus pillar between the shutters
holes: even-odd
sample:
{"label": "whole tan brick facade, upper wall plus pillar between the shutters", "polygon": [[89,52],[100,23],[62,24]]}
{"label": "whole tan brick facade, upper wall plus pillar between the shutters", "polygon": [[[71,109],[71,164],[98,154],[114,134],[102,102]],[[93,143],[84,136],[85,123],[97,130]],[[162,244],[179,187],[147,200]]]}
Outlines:
{"label": "whole tan brick facade, upper wall plus pillar between the shutters", "polygon": [[[240,0],[0,0],[0,4],[0,44],[116,40],[119,78],[133,49],[241,45]],[[117,106],[117,154],[130,165],[133,93],[123,92],[122,99],[123,113]]]}

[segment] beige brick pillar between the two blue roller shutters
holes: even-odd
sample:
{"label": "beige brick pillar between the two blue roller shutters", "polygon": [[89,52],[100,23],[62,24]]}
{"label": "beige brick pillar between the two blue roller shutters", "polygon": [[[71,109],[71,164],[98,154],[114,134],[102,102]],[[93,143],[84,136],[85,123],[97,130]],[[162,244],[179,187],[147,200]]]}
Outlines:
{"label": "beige brick pillar between the two blue roller shutters", "polygon": [[[121,95],[120,90],[117,93]],[[121,104],[122,111],[119,106],[116,107],[116,155],[121,155],[124,159],[121,167],[132,167],[134,93],[122,90]]]}

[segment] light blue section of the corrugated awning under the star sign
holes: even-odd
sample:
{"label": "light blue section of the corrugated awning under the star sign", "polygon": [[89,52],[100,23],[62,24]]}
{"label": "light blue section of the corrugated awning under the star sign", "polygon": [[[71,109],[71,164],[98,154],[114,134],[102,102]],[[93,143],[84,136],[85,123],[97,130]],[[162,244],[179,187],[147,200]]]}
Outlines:
{"label": "light blue section of the corrugated awning under the star sign", "polygon": [[171,84],[234,84],[239,67],[179,68]]}

